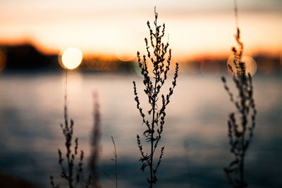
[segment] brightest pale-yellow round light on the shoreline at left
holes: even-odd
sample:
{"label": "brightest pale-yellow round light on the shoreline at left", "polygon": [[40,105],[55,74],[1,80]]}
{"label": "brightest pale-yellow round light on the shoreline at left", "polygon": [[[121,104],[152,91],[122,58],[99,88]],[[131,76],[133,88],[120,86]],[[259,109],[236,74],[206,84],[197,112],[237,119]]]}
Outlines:
{"label": "brightest pale-yellow round light on the shoreline at left", "polygon": [[78,48],[68,48],[61,55],[63,68],[75,69],[82,61],[82,52]]}

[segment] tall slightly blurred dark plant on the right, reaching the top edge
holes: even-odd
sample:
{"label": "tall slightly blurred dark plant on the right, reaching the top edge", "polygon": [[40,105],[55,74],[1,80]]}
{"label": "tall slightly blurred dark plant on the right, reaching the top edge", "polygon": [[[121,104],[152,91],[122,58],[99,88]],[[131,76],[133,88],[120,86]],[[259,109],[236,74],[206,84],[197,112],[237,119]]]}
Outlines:
{"label": "tall slightly blurred dark plant on the right, reaching the top edge", "polygon": [[[245,154],[252,140],[257,110],[253,97],[252,77],[250,73],[246,74],[245,63],[242,61],[243,42],[240,41],[236,4],[235,17],[237,26],[235,39],[240,49],[238,51],[235,47],[232,48],[234,54],[233,67],[235,67],[235,70],[229,64],[228,68],[233,73],[233,81],[235,87],[238,89],[238,97],[235,98],[233,96],[233,93],[226,84],[225,77],[221,77],[224,88],[236,108],[236,112],[231,113],[228,119],[229,144],[231,145],[231,153],[233,153],[235,159],[224,170],[231,186],[247,187],[244,177]],[[236,115],[240,117],[240,123],[236,121]]]}

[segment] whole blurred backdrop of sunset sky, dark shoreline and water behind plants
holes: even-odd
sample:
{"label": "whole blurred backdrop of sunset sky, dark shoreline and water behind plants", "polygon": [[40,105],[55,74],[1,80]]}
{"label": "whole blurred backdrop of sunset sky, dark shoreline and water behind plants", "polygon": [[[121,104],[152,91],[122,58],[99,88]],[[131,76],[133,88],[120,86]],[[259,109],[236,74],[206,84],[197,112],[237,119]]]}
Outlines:
{"label": "whole blurred backdrop of sunset sky, dark shoreline and water behind plants", "polygon": [[[99,183],[114,187],[101,171],[114,177],[112,135],[119,187],[147,186],[135,140],[145,127],[132,82],[137,82],[142,107],[148,107],[136,52],[145,54],[154,6],[159,25],[166,24],[163,39],[172,49],[173,65],[180,63],[160,143],[166,149],[156,187],[228,187],[223,167],[233,156],[227,118],[235,108],[221,76],[236,92],[226,70],[236,27],[233,1],[222,0],[0,1],[1,182],[49,187],[53,175],[63,184],[57,149],[64,149],[59,125],[68,68],[68,113],[85,151],[85,174],[96,92],[102,135]],[[246,180],[250,187],[281,187],[282,1],[238,0],[238,15],[243,61],[253,77],[258,111]]]}

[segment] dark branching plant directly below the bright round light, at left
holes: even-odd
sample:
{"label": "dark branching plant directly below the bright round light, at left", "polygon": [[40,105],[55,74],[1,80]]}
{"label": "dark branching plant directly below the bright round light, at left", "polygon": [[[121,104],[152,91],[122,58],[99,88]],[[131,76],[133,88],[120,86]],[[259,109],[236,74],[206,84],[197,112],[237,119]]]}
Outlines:
{"label": "dark branching plant directly below the bright round light, at left", "polygon": [[[63,165],[63,161],[65,158],[63,158],[61,149],[58,149],[59,153],[59,165],[61,166],[61,177],[68,182],[69,188],[75,188],[78,186],[80,182],[82,182],[82,165],[83,165],[83,158],[84,153],[81,150],[80,151],[80,158],[78,163],[78,169],[75,173],[75,158],[78,155],[78,138],[75,138],[75,146],[74,151],[72,151],[71,145],[73,144],[73,125],[74,122],[71,119],[70,122],[68,122],[68,108],[67,108],[67,78],[68,78],[68,70],[66,70],[66,93],[65,93],[65,104],[64,104],[64,125],[61,123],[61,129],[63,130],[63,136],[65,137],[65,146],[66,146],[66,167]],[[75,174],[74,174],[75,173]],[[82,187],[89,187],[91,182],[91,176],[87,178],[85,181],[85,184]],[[50,183],[52,188],[59,188],[59,184],[54,184],[54,178],[53,176],[50,176]]]}

